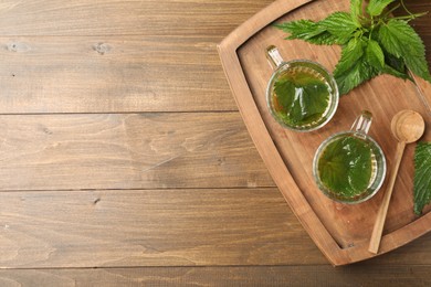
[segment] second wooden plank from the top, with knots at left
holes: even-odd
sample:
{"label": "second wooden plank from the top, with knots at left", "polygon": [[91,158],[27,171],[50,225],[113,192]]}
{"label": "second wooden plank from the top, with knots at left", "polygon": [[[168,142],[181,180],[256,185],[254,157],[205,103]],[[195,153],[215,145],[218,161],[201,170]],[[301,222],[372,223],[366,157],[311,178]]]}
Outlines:
{"label": "second wooden plank from the top, with knots at left", "polygon": [[0,114],[238,110],[217,41],[0,38]]}

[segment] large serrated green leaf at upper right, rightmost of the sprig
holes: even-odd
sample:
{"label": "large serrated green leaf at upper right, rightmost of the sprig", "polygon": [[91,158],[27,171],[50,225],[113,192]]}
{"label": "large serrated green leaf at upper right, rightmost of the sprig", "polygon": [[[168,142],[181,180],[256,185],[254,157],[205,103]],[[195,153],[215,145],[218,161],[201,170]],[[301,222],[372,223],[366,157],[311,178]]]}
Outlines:
{"label": "large serrated green leaf at upper right, rightmost of the sprig", "polygon": [[425,47],[414,30],[402,20],[391,19],[378,32],[381,45],[396,57],[402,57],[407,67],[418,76],[431,82],[425,59]]}

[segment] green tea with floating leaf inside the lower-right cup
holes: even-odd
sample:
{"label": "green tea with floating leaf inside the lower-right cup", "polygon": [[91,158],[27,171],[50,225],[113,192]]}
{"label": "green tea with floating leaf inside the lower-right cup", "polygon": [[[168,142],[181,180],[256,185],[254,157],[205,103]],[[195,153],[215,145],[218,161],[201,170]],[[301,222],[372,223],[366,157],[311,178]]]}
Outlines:
{"label": "green tea with floating leaf inside the lower-right cup", "polygon": [[329,142],[317,163],[322,183],[340,199],[355,199],[371,185],[377,160],[369,142],[344,136]]}

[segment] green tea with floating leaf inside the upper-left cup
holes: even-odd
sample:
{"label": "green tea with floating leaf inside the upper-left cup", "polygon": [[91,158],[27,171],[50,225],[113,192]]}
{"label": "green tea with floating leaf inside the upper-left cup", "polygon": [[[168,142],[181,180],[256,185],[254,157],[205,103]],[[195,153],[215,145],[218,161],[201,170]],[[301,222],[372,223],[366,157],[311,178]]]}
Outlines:
{"label": "green tea with floating leaf inside the upper-left cup", "polygon": [[271,96],[275,114],[284,124],[307,127],[328,114],[332,93],[330,85],[319,73],[297,66],[278,75]]}

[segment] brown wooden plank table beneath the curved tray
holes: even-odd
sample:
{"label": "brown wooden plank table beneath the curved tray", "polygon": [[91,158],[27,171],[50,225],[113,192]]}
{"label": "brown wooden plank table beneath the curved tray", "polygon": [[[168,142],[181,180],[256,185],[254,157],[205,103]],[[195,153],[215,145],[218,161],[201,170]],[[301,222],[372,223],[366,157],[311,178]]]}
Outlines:
{"label": "brown wooden plank table beneath the curved tray", "polygon": [[271,2],[0,2],[0,286],[431,284],[431,234],[334,268],[272,181],[216,47]]}

